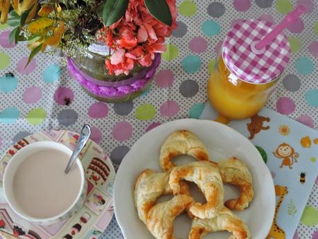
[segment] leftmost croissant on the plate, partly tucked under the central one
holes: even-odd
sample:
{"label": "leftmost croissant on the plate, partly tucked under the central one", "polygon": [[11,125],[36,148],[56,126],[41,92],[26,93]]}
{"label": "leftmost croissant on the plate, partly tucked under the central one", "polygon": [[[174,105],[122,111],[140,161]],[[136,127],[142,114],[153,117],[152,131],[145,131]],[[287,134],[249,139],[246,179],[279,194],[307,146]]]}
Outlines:
{"label": "leftmost croissant on the plate, partly tucked under the central one", "polygon": [[[139,174],[134,185],[134,204],[138,216],[143,223],[146,222],[148,211],[163,194],[173,193],[169,186],[170,172],[156,172],[146,169]],[[188,185],[182,182],[182,193],[188,193]]]}

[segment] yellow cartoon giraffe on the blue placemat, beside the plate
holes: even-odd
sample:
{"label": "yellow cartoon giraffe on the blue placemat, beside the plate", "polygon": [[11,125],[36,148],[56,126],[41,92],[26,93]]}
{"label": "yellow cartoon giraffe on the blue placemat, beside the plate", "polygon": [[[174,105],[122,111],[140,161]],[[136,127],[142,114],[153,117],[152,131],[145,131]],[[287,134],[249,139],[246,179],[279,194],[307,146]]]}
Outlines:
{"label": "yellow cartoon giraffe on the blue placemat, beside the plate", "polygon": [[266,239],[274,238],[274,239],[285,239],[285,231],[281,229],[276,223],[277,214],[279,213],[279,208],[281,207],[281,203],[286,194],[288,194],[288,188],[281,185],[275,185],[275,193],[276,196],[279,196],[279,202],[277,203],[274,220],[272,224],[272,228],[270,229],[270,233],[268,234]]}

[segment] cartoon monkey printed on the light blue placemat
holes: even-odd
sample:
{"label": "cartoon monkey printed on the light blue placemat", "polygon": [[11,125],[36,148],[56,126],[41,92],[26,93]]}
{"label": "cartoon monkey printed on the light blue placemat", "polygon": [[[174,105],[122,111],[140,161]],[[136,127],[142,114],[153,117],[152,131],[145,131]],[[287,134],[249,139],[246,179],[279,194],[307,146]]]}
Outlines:
{"label": "cartoon monkey printed on the light blue placemat", "polygon": [[294,148],[292,148],[292,146],[290,146],[288,143],[282,143],[279,145],[273,154],[276,158],[283,159],[279,168],[288,166],[290,169],[292,169],[292,164],[294,162],[297,163],[297,158],[299,157],[299,153],[295,152]]}

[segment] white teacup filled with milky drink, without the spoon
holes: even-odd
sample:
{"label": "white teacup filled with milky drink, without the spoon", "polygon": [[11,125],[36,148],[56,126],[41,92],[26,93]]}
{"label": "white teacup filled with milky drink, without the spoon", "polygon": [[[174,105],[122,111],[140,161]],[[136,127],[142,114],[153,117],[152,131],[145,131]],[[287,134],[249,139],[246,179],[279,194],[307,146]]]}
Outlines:
{"label": "white teacup filled with milky drink, without the spoon", "polygon": [[21,148],[3,175],[3,191],[11,209],[37,224],[62,222],[79,211],[87,182],[80,159],[65,174],[71,154],[67,146],[52,141]]}

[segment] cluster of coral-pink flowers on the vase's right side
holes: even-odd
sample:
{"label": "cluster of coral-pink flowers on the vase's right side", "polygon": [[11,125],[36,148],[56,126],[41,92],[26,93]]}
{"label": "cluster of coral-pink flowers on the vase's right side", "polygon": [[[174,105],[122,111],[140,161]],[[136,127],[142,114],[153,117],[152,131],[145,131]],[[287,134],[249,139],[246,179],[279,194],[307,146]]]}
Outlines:
{"label": "cluster of coral-pink flowers on the vase's right side", "polygon": [[125,15],[112,26],[98,31],[98,39],[114,49],[105,59],[110,75],[128,75],[136,65],[149,67],[156,53],[164,53],[165,37],[177,27],[176,0],[166,0],[173,17],[172,26],[167,26],[150,14],[144,0],[129,0]]}

